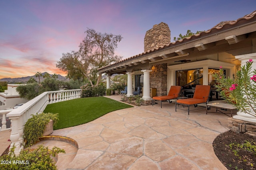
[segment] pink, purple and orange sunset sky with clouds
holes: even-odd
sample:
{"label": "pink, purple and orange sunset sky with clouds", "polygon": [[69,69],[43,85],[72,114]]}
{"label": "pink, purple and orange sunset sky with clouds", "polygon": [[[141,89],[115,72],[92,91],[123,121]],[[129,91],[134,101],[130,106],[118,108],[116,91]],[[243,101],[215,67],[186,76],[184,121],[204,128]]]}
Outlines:
{"label": "pink, purple and orange sunset sky with clouds", "polygon": [[144,52],[146,31],[167,23],[171,41],[256,10],[256,0],[0,0],[0,78],[61,74],[62,53],[78,51],[87,28],[122,35],[116,55]]}

